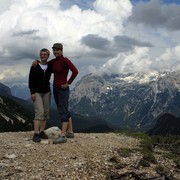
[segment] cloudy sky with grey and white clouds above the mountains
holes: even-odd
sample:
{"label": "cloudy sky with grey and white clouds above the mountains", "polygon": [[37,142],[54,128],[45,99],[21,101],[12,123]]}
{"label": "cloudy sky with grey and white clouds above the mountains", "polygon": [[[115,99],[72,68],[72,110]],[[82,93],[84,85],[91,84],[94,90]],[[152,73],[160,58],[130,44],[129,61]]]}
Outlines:
{"label": "cloudy sky with grey and white clouds above the mountains", "polygon": [[179,0],[0,0],[0,30],[0,82],[7,85],[27,83],[39,50],[55,42],[79,79],[180,69]]}

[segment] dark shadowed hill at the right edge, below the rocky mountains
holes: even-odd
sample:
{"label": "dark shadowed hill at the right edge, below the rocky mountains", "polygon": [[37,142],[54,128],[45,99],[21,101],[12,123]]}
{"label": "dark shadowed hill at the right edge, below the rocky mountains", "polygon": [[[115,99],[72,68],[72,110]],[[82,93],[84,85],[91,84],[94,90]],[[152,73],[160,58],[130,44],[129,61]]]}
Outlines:
{"label": "dark shadowed hill at the right edge, below the rocky mountains", "polygon": [[180,135],[180,118],[163,114],[156,120],[156,125],[147,132],[149,135]]}

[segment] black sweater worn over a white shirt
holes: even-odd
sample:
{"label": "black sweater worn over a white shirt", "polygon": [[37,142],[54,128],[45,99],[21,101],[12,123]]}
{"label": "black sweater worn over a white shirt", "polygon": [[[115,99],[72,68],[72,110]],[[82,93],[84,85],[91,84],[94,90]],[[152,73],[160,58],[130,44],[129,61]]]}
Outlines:
{"label": "black sweater worn over a white shirt", "polygon": [[46,71],[40,65],[31,66],[29,72],[29,89],[31,94],[47,93],[50,91],[50,77],[52,73],[52,65],[48,64]]}

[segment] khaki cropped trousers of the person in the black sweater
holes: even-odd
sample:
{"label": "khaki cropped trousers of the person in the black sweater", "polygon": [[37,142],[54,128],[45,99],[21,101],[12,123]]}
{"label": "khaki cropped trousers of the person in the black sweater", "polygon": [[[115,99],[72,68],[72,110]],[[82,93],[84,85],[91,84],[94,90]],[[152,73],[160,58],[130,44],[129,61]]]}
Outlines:
{"label": "khaki cropped trousers of the person in the black sweater", "polygon": [[33,101],[35,120],[47,121],[49,119],[49,109],[51,93],[35,93],[36,99]]}

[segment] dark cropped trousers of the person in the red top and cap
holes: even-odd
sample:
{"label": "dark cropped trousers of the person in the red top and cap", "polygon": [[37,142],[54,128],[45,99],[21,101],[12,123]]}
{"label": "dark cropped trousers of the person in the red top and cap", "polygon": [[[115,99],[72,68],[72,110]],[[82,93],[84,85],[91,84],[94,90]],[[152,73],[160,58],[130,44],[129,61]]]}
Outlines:
{"label": "dark cropped trousers of the person in the red top and cap", "polygon": [[61,123],[68,122],[69,112],[69,87],[66,89],[53,87],[54,100],[61,118]]}

